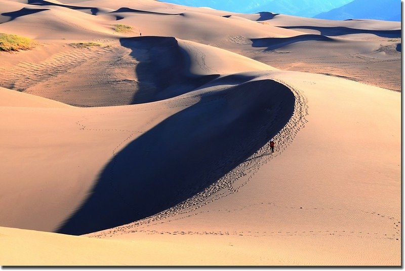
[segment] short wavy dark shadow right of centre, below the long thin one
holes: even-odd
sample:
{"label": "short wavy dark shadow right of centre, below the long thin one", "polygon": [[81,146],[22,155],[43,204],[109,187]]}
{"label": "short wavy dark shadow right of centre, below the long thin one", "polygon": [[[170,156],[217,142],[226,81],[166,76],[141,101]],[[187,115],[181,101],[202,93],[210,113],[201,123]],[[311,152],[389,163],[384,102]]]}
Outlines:
{"label": "short wavy dark shadow right of centre, below the long thin one", "polygon": [[265,51],[275,50],[290,44],[308,41],[334,42],[330,37],[323,35],[305,34],[292,37],[264,37],[252,38],[253,47],[267,47]]}

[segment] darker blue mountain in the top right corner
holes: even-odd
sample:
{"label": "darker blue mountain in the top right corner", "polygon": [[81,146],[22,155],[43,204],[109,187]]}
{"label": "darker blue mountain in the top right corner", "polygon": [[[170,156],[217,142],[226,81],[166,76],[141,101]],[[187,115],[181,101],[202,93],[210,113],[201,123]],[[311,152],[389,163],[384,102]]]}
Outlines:
{"label": "darker blue mountain in the top right corner", "polygon": [[401,2],[399,0],[354,0],[340,8],[320,13],[314,18],[401,21]]}

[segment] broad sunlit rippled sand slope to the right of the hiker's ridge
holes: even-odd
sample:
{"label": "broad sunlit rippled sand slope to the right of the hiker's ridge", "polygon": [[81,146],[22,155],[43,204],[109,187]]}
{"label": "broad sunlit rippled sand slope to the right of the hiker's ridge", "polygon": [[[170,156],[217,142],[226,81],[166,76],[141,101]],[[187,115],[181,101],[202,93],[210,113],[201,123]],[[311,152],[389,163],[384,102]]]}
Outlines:
{"label": "broad sunlit rippled sand slope to the right of the hiker's ridge", "polygon": [[399,264],[399,94],[328,76],[271,76],[304,102],[275,137],[275,154],[261,148],[193,199],[91,236],[221,236],[289,251],[298,265]]}

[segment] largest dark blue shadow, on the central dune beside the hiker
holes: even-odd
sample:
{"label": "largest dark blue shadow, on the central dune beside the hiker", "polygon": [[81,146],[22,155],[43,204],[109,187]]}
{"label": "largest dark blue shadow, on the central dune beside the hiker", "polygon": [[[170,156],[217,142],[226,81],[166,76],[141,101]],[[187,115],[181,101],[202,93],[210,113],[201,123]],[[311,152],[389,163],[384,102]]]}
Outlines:
{"label": "largest dark blue shadow, on the central dune beside the hiker", "polygon": [[196,195],[280,131],[294,102],[289,88],[271,80],[203,93],[119,151],[57,232],[82,235],[124,225]]}

